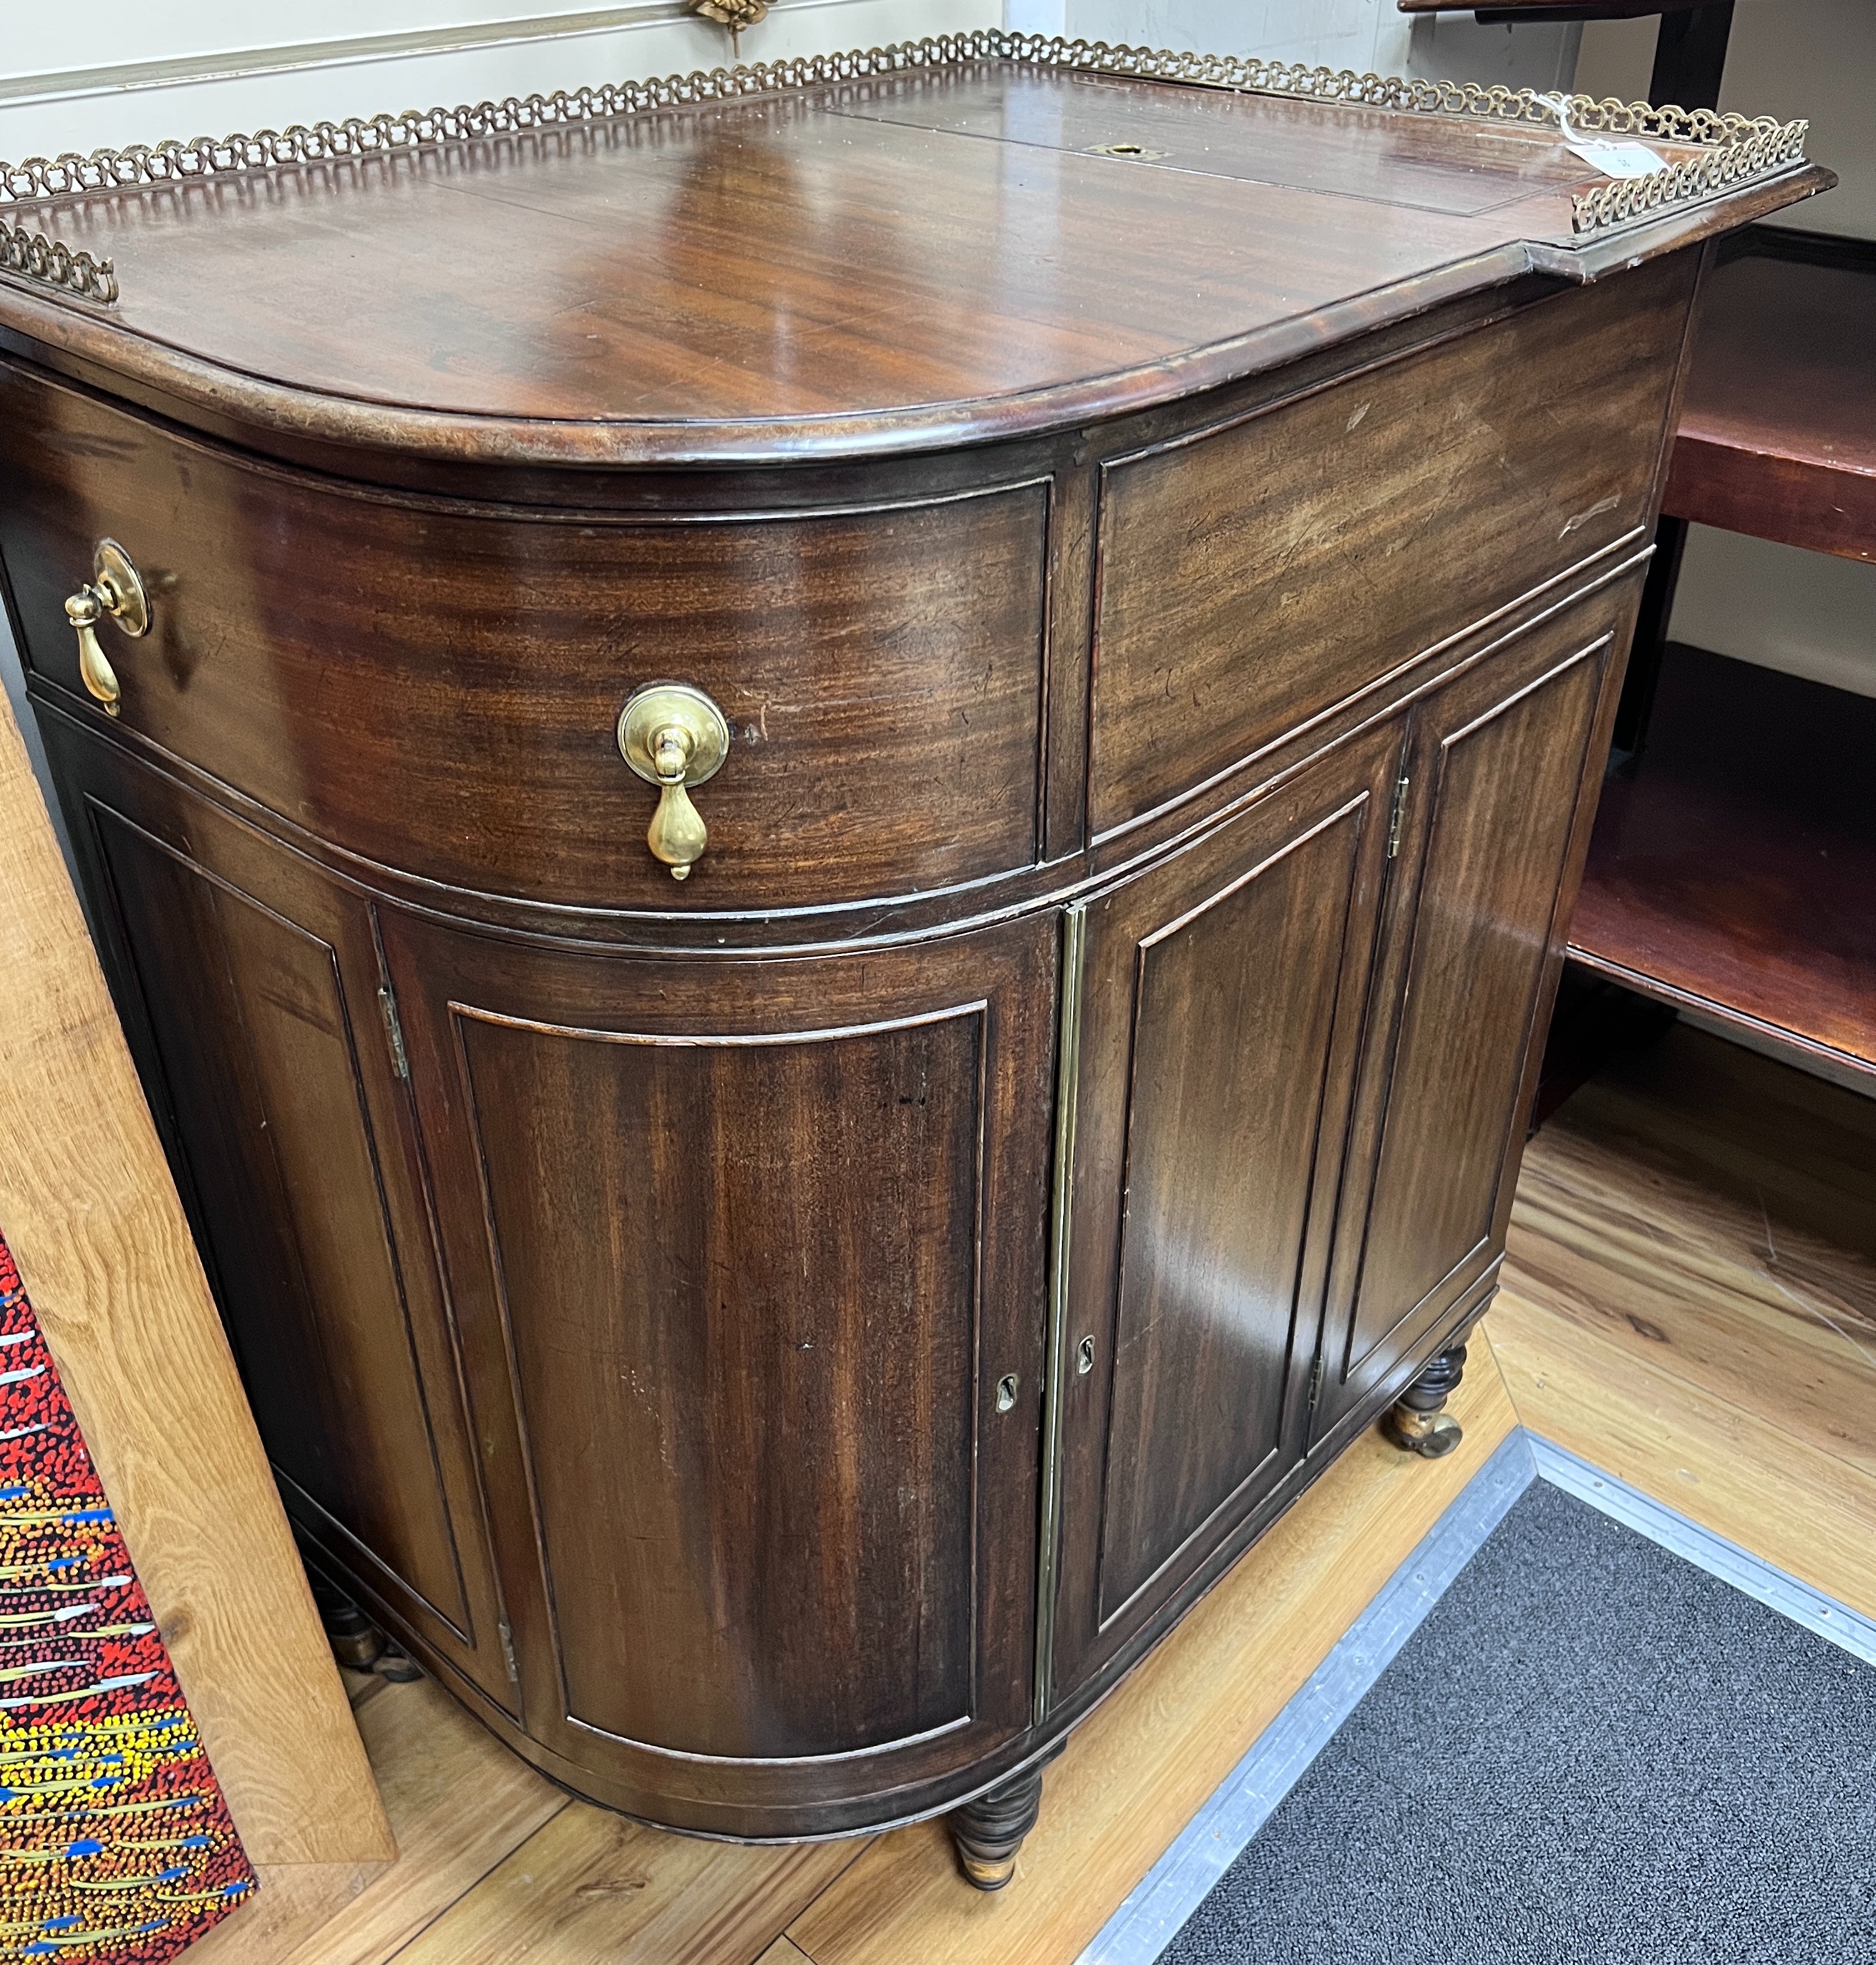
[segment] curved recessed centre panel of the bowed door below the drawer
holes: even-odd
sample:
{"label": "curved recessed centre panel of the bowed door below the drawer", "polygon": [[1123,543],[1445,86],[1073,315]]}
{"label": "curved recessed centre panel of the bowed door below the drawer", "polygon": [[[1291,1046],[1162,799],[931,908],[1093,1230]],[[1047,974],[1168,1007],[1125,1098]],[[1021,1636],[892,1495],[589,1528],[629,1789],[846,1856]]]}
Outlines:
{"label": "curved recessed centre panel of the bowed door below the drawer", "polygon": [[452,1014],[568,1719],[718,1759],[967,1725],[981,1006],[757,1041]]}

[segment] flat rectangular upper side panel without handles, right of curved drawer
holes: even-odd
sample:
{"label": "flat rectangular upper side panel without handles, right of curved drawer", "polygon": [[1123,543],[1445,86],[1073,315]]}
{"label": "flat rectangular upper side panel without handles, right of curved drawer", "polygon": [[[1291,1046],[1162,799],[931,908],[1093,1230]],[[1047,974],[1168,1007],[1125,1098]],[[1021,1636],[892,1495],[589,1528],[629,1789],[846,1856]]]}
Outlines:
{"label": "flat rectangular upper side panel without handles, right of curved drawer", "polygon": [[1681,253],[1109,460],[1093,831],[1644,527],[1693,279]]}

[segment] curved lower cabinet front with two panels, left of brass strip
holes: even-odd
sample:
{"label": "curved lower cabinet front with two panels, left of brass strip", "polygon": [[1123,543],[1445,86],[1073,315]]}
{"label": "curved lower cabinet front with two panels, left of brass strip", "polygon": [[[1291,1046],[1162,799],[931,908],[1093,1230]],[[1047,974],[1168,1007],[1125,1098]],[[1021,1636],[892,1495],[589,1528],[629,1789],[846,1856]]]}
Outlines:
{"label": "curved lower cabinet front with two panels, left of brass strip", "polygon": [[838,1833],[1030,1723],[1056,922],[557,951],[45,723],[289,1513],[551,1772]]}

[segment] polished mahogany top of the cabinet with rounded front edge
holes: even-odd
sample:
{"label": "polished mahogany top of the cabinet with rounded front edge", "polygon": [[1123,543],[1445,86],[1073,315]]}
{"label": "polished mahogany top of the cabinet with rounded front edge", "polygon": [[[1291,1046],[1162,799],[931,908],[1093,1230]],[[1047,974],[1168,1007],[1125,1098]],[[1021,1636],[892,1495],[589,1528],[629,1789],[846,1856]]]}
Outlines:
{"label": "polished mahogany top of the cabinet with rounded front edge", "polygon": [[[1656,130],[1699,195],[1599,214],[1611,181],[1528,92],[1441,110],[1432,84],[1017,59],[1038,49],[981,33],[0,167],[0,344],[189,421],[458,460],[924,450],[1186,395],[1530,271],[1593,279],[1831,183],[1801,130]],[[1188,79],[1117,73],[1152,65]],[[116,299],[57,291],[61,246],[112,267],[67,285]]]}

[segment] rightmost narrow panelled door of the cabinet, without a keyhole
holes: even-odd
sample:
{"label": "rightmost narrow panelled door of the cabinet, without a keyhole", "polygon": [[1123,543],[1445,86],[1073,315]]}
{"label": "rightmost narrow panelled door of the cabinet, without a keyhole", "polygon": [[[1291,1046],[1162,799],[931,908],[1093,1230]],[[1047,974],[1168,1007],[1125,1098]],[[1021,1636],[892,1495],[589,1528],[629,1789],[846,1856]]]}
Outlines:
{"label": "rightmost narrow panelled door of the cabinet, without a keyhole", "polygon": [[1414,711],[1314,1438],[1502,1256],[1526,1065],[1595,802],[1583,770],[1634,595],[1593,595]]}

